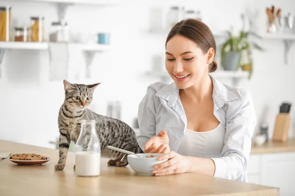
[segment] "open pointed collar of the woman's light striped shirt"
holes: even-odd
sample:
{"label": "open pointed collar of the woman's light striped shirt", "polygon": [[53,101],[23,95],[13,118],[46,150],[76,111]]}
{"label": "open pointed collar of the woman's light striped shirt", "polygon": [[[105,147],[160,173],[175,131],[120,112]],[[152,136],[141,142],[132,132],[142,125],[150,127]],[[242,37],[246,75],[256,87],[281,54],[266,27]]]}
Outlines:
{"label": "open pointed collar of the woman's light striped shirt", "polygon": [[[213,76],[210,75],[210,78],[213,82],[213,102],[214,110],[223,107],[225,102],[233,101],[238,99],[238,97],[228,90],[221,82],[216,80]],[[173,82],[162,89],[160,89],[155,96],[167,100],[169,107],[173,106],[177,99],[179,98],[179,89],[176,84]]]}

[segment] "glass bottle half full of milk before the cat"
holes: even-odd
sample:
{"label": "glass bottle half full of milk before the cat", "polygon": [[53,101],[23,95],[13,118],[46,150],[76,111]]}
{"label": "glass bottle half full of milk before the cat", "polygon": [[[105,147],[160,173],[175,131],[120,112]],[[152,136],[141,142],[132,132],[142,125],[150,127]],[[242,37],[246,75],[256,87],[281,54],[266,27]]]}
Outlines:
{"label": "glass bottle half full of milk before the cat", "polygon": [[100,143],[94,120],[82,120],[76,144],[76,175],[98,176],[100,174]]}

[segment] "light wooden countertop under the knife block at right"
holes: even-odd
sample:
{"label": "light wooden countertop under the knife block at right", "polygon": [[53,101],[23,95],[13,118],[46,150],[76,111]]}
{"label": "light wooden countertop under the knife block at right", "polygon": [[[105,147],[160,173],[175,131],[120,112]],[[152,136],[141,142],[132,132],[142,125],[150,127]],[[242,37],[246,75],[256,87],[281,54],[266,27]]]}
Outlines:
{"label": "light wooden countertop under the knife block at right", "polygon": [[252,145],[251,154],[263,154],[274,152],[295,152],[295,138],[289,138],[286,143],[270,141],[261,146]]}

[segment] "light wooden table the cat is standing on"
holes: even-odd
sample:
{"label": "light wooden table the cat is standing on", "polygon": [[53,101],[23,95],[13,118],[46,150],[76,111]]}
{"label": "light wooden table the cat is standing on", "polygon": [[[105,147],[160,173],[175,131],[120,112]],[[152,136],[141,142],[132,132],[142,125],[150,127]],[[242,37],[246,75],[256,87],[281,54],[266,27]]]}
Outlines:
{"label": "light wooden table the cat is standing on", "polygon": [[59,152],[0,140],[0,152],[36,153],[49,156],[42,166],[19,166],[8,159],[0,160],[1,196],[278,196],[276,188],[234,180],[213,178],[195,173],[170,176],[138,176],[127,166],[107,166],[101,160],[101,175],[76,177],[75,154],[69,152],[66,167],[55,171]]}

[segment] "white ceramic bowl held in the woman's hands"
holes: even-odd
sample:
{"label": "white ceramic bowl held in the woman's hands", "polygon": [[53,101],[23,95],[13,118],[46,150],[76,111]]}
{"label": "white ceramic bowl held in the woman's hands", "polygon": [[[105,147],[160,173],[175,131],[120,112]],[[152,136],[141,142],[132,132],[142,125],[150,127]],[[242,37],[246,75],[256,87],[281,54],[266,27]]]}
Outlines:
{"label": "white ceramic bowl held in the woman's hands", "polygon": [[[162,161],[157,161],[157,158],[162,154],[153,154],[153,153],[146,153],[146,154],[137,154],[140,157],[129,154],[127,156],[128,163],[132,170],[134,170],[138,175],[154,175],[151,171],[153,170],[152,167],[156,164],[163,163],[168,161],[168,159],[164,159]],[[153,155],[154,157],[148,158],[147,156]]]}

